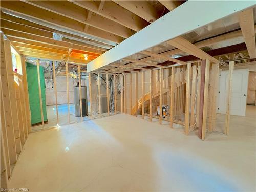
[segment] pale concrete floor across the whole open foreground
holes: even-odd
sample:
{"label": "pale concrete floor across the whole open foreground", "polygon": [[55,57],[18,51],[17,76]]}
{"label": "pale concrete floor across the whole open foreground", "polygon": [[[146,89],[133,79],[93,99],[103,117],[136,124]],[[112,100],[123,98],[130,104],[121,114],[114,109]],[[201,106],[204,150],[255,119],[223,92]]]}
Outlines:
{"label": "pale concrete floor across the whole open foreground", "polygon": [[[29,191],[255,191],[256,107],[231,116],[230,135],[185,136],[118,114],[34,132],[10,188]],[[218,117],[218,125],[223,117]]]}

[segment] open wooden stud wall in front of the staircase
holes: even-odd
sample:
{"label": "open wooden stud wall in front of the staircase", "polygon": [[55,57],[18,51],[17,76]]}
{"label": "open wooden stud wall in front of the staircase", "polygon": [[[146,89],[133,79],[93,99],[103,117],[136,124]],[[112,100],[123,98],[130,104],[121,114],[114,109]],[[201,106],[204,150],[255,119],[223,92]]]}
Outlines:
{"label": "open wooden stud wall in front of the staircase", "polygon": [[[131,115],[141,114],[142,118],[148,116],[149,121],[152,121],[152,118],[158,118],[160,124],[163,120],[169,121],[172,128],[175,127],[175,124],[181,125],[186,135],[199,127],[199,137],[204,140],[207,132],[212,132],[215,129],[218,88],[218,80],[215,79],[218,79],[219,64],[210,63],[209,60],[203,62],[205,63],[203,64],[205,65],[203,74],[201,61],[182,66],[152,69],[149,71],[150,86],[147,92],[144,90],[145,71],[139,72],[141,73],[139,79],[138,72],[125,75],[124,79],[129,79],[126,86],[129,86],[130,100],[126,100],[124,105],[130,104]],[[135,78],[135,87],[132,86],[133,77]],[[141,81],[138,82],[138,80]],[[137,97],[138,83],[141,83],[141,98]],[[135,95],[135,100],[133,100],[132,94]],[[132,104],[134,101],[135,103]],[[157,106],[161,105],[169,107],[169,114],[166,117],[162,117],[162,110],[160,110],[160,115],[156,114]],[[200,112],[200,106],[202,106],[202,112]]]}

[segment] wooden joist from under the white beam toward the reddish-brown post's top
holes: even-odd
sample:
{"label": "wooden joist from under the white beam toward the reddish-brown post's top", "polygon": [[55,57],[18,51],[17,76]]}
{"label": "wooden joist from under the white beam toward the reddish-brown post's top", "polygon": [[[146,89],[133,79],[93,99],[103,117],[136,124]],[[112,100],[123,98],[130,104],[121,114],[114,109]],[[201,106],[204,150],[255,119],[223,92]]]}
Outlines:
{"label": "wooden joist from under the white beam toward the reddish-brown post's top", "polygon": [[184,39],[183,37],[177,37],[172,40],[167,41],[167,44],[170,44],[178,49],[189,53],[190,55],[194,55],[202,60],[210,60],[211,62],[218,63],[219,61],[214,57],[211,57],[203,50],[199,49],[197,46],[191,44],[188,40]]}

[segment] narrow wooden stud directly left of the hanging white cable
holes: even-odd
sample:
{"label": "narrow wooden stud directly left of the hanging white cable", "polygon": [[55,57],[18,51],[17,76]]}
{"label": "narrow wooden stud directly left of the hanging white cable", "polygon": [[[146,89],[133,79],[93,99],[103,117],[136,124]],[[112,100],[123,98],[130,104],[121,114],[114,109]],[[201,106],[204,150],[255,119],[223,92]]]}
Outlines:
{"label": "narrow wooden stud directly left of the hanging white cable", "polygon": [[190,126],[195,124],[195,102],[196,102],[196,79],[197,79],[197,66],[192,66],[192,90],[191,90],[191,116]]}

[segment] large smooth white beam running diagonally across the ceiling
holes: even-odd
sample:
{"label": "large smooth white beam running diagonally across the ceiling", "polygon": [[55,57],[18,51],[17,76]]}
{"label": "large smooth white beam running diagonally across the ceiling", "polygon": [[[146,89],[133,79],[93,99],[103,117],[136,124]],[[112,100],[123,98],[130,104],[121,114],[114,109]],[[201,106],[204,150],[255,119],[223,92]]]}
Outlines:
{"label": "large smooth white beam running diagonally across the ceiling", "polygon": [[[236,2],[236,4],[230,4],[230,2],[225,1],[187,1],[182,6],[165,14],[161,19],[156,20],[150,26],[135,33],[105,54],[88,63],[88,72],[159,45],[251,6],[254,6],[254,2],[240,1]],[[218,14],[209,15],[209,9],[212,12],[218,12]],[[184,16],[184,12],[186,15],[193,15],[193,17]],[[202,17],[202,15],[208,16]],[[177,27],[170,28],[170,25]],[[140,43],[137,44],[137,42]],[[136,46],[134,46],[135,44]]]}

